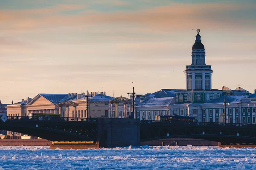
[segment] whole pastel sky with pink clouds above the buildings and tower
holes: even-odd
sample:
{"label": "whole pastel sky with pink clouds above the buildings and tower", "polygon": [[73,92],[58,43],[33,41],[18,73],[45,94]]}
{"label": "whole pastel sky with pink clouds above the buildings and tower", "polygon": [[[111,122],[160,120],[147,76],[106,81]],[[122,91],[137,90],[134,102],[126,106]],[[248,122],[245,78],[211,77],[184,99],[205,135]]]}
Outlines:
{"label": "whole pastel sky with pink clouds above the buildings and tower", "polygon": [[212,88],[256,89],[255,0],[0,0],[0,100],[185,89],[200,28]]}

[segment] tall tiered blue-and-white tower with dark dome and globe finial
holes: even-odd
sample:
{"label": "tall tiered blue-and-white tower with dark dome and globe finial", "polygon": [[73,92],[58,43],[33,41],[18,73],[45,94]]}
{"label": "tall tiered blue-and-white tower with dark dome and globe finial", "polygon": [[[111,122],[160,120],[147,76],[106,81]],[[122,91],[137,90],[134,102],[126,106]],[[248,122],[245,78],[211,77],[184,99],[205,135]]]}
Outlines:
{"label": "tall tiered blue-and-white tower with dark dome and globe finial", "polygon": [[205,50],[197,29],[195,43],[192,46],[192,64],[186,65],[186,91],[211,91],[212,66],[205,64]]}

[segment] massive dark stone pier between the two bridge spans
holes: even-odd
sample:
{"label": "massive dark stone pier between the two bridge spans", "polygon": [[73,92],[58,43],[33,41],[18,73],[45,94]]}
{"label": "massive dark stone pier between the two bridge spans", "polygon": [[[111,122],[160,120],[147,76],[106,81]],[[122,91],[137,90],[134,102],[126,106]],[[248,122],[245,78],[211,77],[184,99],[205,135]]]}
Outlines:
{"label": "massive dark stone pier between the two bridge spans", "polygon": [[140,146],[140,120],[98,118],[99,147]]}

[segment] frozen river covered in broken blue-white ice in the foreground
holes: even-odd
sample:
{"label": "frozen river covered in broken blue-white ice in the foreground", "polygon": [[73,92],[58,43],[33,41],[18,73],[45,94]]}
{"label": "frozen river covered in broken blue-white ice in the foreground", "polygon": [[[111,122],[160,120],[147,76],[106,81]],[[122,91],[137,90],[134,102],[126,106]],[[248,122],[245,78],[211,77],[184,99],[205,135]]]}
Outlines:
{"label": "frozen river covered in broken blue-white ice in the foreground", "polygon": [[255,148],[115,147],[49,150],[2,146],[0,170],[255,170]]}

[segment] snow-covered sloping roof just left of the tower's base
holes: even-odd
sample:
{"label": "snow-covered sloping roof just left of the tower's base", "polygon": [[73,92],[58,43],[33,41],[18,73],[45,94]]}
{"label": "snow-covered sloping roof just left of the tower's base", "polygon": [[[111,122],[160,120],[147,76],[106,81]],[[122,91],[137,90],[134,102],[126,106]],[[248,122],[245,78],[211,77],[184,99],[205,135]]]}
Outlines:
{"label": "snow-covered sloping roof just left of the tower's base", "polygon": [[175,102],[174,97],[146,97],[143,102],[137,102],[136,107],[140,106],[169,106]]}

